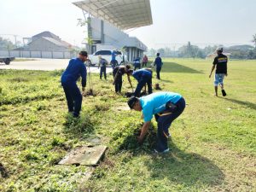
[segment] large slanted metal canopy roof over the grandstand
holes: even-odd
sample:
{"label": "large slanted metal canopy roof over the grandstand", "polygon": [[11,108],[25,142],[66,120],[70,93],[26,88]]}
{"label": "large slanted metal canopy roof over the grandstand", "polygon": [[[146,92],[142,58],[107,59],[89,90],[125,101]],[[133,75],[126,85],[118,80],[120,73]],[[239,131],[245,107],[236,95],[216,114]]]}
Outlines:
{"label": "large slanted metal canopy roof over the grandstand", "polygon": [[149,0],[84,0],[73,4],[121,30],[153,24]]}

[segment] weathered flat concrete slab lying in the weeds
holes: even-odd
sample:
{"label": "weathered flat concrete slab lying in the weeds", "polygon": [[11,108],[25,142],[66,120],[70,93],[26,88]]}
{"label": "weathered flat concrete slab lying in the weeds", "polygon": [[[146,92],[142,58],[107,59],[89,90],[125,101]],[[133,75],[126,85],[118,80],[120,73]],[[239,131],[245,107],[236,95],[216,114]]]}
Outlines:
{"label": "weathered flat concrete slab lying in the weeds", "polygon": [[69,152],[60,162],[59,165],[81,165],[96,166],[102,159],[107,146],[79,146]]}

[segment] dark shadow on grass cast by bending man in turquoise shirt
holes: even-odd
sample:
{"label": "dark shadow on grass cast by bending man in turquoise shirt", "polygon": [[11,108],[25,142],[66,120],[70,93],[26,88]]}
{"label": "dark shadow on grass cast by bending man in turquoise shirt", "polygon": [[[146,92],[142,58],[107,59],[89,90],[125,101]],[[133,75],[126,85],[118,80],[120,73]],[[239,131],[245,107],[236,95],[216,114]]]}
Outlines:
{"label": "dark shadow on grass cast by bending man in turquoise shirt", "polygon": [[200,154],[186,153],[169,141],[171,152],[152,155],[147,163],[152,177],[167,177],[173,183],[187,187],[197,184],[219,185],[224,180],[224,173],[211,160]]}

